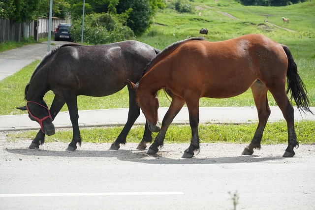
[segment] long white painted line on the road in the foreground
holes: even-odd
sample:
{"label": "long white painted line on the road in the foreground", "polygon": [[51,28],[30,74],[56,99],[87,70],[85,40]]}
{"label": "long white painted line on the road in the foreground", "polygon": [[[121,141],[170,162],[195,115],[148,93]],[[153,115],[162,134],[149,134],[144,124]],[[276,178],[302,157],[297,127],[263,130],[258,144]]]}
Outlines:
{"label": "long white painted line on the road in the foreground", "polygon": [[184,195],[184,193],[183,192],[29,193],[29,194],[0,194],[0,197],[112,196],[112,195]]}

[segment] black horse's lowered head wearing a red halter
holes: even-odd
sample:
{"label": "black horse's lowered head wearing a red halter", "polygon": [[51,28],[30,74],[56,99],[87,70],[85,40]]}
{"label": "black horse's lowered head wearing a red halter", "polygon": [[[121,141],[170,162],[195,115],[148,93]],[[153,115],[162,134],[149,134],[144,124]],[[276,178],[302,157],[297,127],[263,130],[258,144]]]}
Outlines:
{"label": "black horse's lowered head wearing a red halter", "polygon": [[43,133],[48,136],[55,134],[55,126],[52,123],[53,119],[44,100],[40,103],[28,101],[26,106],[17,107],[17,109],[27,110],[29,112],[29,118],[39,123]]}

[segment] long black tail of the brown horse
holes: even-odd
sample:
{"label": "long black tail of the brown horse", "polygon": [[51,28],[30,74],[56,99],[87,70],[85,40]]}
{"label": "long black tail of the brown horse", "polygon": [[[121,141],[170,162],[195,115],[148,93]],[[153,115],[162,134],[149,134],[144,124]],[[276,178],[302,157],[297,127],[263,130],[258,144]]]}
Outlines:
{"label": "long black tail of the brown horse", "polygon": [[299,110],[302,110],[304,113],[310,112],[313,114],[309,107],[310,101],[306,94],[307,90],[302,79],[297,73],[297,66],[293,60],[293,56],[289,48],[287,48],[284,45],[282,45],[282,47],[288,59],[288,68],[286,72],[287,81],[286,94],[290,91],[291,99],[292,98],[294,99],[296,106],[298,107]]}

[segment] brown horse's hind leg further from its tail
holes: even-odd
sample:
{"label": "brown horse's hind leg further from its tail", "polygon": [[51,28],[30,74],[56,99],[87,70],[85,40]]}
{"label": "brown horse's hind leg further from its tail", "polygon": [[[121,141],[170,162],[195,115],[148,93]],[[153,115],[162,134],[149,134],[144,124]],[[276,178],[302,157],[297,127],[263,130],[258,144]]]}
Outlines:
{"label": "brown horse's hind leg further from its tail", "polygon": [[254,153],[253,149],[260,149],[262,134],[267,124],[267,120],[270,116],[270,108],[267,98],[268,90],[266,86],[262,82],[257,80],[254,84],[252,84],[251,89],[258,113],[258,126],[252,138],[251,144],[247,146],[242,152],[242,154],[245,155],[251,155],[252,153]]}

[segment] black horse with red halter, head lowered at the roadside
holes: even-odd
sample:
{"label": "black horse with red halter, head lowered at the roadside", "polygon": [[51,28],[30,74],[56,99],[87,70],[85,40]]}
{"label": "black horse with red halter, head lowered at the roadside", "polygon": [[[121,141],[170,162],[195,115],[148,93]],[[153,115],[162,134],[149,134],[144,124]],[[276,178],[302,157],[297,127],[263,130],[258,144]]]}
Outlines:
{"label": "black horse with red halter, head lowered at the roadside", "polygon": [[[132,40],[96,46],[65,44],[53,49],[38,64],[25,88],[27,105],[18,108],[28,110],[30,119],[41,126],[29,148],[39,148],[45,141],[45,134],[55,134],[52,121],[66,103],[73,129],[73,138],[67,150],[76,150],[77,143],[81,145],[82,141],[77,95],[106,96],[122,90],[127,79],[139,81],[143,69],[158,52],[147,44]],[[49,90],[55,94],[50,109],[43,100]],[[118,150],[120,144],[126,144],[126,136],[140,115],[135,93],[130,88],[128,90],[128,119],[110,148],[113,150]],[[143,139],[137,149],[146,148],[146,143],[152,141],[151,134],[146,123]]]}

